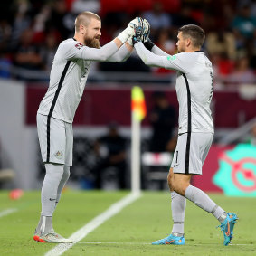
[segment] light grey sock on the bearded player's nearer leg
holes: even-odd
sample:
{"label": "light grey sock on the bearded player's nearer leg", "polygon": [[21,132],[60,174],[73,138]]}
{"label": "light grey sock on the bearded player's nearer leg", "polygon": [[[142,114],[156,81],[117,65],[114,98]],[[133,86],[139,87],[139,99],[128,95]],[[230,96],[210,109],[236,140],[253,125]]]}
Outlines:
{"label": "light grey sock on the bearded player's nearer leg", "polygon": [[62,180],[63,165],[45,164],[45,169],[41,193],[42,215],[52,216],[57,200],[57,190]]}

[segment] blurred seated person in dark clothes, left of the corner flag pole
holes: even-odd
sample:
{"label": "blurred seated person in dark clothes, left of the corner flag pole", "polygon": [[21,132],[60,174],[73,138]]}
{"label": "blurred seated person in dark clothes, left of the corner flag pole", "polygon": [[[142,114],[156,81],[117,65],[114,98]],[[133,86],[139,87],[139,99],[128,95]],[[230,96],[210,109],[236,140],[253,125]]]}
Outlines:
{"label": "blurred seated person in dark clothes, left of the corner flag pole", "polygon": [[119,135],[118,124],[109,123],[108,133],[97,139],[95,143],[96,155],[100,157],[98,164],[93,168],[95,188],[102,188],[103,172],[109,167],[118,171],[119,188],[126,188],[126,139]]}

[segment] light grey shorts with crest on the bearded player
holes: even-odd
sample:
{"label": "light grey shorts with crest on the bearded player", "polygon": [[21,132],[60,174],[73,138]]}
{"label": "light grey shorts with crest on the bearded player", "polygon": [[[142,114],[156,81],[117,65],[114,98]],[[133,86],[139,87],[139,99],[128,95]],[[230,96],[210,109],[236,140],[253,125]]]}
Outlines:
{"label": "light grey shorts with crest on the bearded player", "polygon": [[72,166],[72,124],[37,114],[37,133],[43,163]]}

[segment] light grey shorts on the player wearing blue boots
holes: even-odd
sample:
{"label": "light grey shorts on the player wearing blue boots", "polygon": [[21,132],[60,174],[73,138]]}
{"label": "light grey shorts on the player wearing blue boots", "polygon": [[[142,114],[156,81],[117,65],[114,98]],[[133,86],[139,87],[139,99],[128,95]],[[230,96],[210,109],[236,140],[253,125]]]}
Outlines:
{"label": "light grey shorts on the player wearing blue boots", "polygon": [[202,175],[202,166],[213,142],[213,133],[179,135],[171,164],[175,174]]}

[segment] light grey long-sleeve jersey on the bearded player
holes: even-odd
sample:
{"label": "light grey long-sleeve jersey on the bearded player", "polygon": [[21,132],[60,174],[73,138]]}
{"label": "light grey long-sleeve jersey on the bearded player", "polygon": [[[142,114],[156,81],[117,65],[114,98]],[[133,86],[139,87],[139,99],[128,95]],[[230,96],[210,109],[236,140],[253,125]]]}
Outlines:
{"label": "light grey long-sleeve jersey on the bearded player", "polygon": [[73,38],[60,43],[50,74],[50,85],[38,113],[72,123],[90,71],[91,61],[123,62],[130,52],[110,42],[100,49],[89,48]]}

